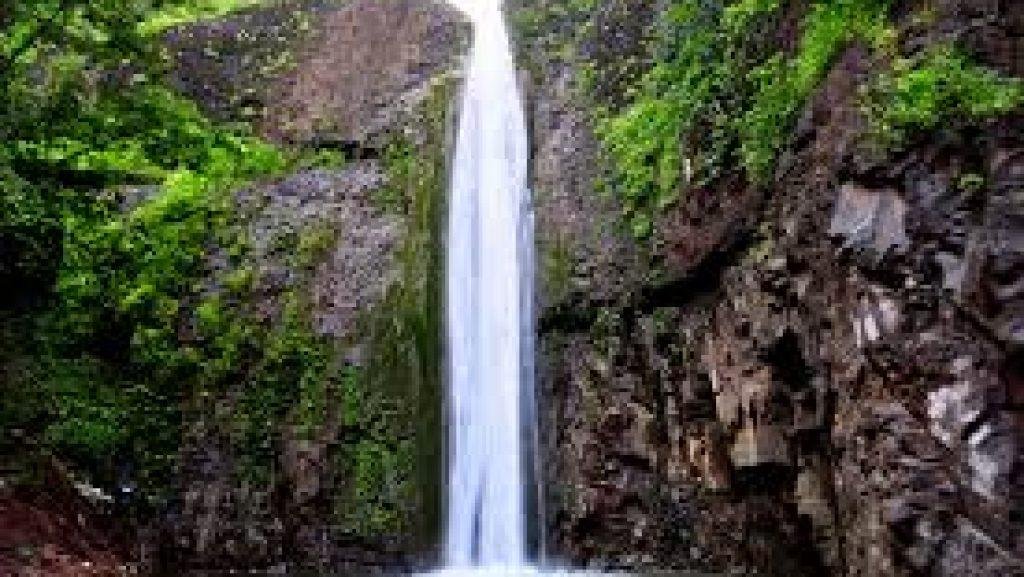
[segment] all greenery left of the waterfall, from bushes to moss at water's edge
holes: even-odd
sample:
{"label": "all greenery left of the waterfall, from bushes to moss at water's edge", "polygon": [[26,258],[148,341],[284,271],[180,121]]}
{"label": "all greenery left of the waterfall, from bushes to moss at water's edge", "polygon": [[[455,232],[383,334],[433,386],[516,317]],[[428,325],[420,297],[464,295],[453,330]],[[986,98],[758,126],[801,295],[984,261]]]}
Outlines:
{"label": "all greenery left of the waterfall, from bushes to moss at water's edge", "polygon": [[[14,287],[0,303],[0,451],[26,473],[52,456],[159,506],[189,444],[217,444],[240,486],[269,491],[285,444],[308,443],[335,465],[339,531],[432,528],[454,83],[425,107],[425,140],[396,136],[384,159],[376,200],[409,222],[400,282],[357,336],[322,336],[307,284],[344,232],[250,238],[234,191],[342,155],[271,146],[162,82],[160,30],[254,3],[18,0],[0,16],[0,285]],[[266,264],[288,269],[284,286],[260,278]],[[360,366],[343,361],[355,341]]]}

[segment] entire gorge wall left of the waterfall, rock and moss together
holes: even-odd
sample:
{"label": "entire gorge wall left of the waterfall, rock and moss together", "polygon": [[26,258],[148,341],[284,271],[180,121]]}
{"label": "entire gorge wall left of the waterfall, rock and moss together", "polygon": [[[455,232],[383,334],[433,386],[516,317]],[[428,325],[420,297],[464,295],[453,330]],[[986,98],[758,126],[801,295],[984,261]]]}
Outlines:
{"label": "entire gorge wall left of the waterfall, rock and moss together", "polygon": [[[185,200],[159,180],[81,191],[101,210],[116,199],[104,213],[112,222],[97,230],[123,231],[156,211],[131,241],[166,234],[142,241],[143,261],[167,247],[200,264],[165,271],[174,277],[164,301],[170,338],[146,369],[139,335],[157,331],[118,304],[117,287],[134,282],[136,266],[123,255],[98,266],[124,275],[94,306],[106,323],[99,347],[96,335],[71,349],[36,344],[48,338],[34,328],[43,311],[66,305],[59,289],[38,291],[38,308],[0,308],[0,573],[361,573],[433,563],[443,195],[468,40],[455,8],[418,0],[266,3],[143,40],[160,48],[158,89],[291,160]],[[174,136],[164,130],[170,143],[158,154],[173,152]],[[244,156],[266,150],[232,141]],[[176,212],[165,223],[166,206]],[[203,215],[199,246],[185,245],[182,214]],[[3,244],[7,228],[0,235],[10,275],[9,253],[22,255]],[[75,235],[62,236],[67,254]],[[52,277],[68,269],[56,238],[45,260],[27,255]],[[118,242],[84,252],[105,258],[130,246]],[[60,381],[53,366],[114,376],[78,371],[83,378]],[[169,394],[150,393],[169,366]],[[69,400],[54,418],[52,407]],[[84,432],[53,432],[66,423]]]}

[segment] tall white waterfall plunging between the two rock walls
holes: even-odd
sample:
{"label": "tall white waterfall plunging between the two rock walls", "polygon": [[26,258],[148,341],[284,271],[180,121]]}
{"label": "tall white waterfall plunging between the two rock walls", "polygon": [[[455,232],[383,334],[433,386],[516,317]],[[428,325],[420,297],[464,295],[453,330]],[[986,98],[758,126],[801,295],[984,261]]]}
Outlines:
{"label": "tall white waterfall plunging between the two rock walls", "polygon": [[463,4],[474,40],[449,200],[445,563],[521,568],[534,366],[526,126],[501,0]]}

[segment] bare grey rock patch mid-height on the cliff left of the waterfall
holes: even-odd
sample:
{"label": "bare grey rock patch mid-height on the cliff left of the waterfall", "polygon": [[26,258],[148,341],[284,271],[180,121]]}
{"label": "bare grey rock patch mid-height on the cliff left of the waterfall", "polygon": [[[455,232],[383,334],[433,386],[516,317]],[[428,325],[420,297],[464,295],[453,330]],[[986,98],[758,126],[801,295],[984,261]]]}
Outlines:
{"label": "bare grey rock patch mid-height on the cliff left of the waterfall", "polygon": [[[290,257],[305,257],[312,269],[310,297],[318,332],[339,339],[353,337],[361,312],[384,297],[401,272],[396,253],[403,236],[400,214],[384,210],[375,200],[387,186],[376,160],[358,161],[334,170],[293,174],[271,186],[243,191],[241,210],[252,211],[250,238],[262,267],[261,291],[273,294],[295,276]],[[288,254],[288,239],[305,235],[305,254]],[[301,243],[301,241],[300,241]],[[321,249],[327,253],[308,254]],[[291,266],[290,266],[291,265]],[[268,302],[272,306],[272,302]]]}

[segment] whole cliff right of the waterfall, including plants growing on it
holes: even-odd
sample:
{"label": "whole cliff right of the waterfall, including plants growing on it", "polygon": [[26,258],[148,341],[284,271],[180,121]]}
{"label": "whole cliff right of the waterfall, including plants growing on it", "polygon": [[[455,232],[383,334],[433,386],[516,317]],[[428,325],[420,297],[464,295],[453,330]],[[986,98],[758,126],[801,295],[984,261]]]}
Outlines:
{"label": "whole cliff right of the waterfall, including plants growing on it", "polygon": [[[976,116],[942,99],[955,75],[915,88],[936,102],[877,98],[949,43],[957,70],[1021,76],[1024,11],[582,4],[511,10],[532,85],[549,554],[1021,571],[1019,100]],[[829,14],[855,31],[864,9],[884,32],[822,47]],[[914,106],[941,121],[880,135]],[[776,137],[757,139],[758,115]],[[679,156],[666,202],[641,196],[658,176],[630,172],[634,154]]]}

